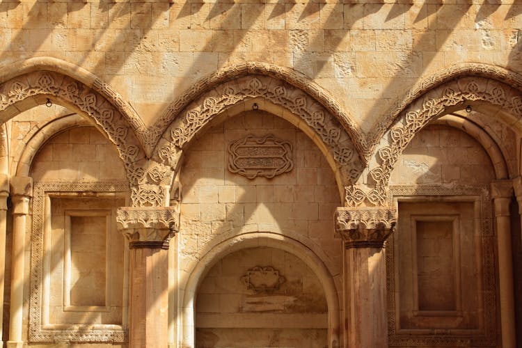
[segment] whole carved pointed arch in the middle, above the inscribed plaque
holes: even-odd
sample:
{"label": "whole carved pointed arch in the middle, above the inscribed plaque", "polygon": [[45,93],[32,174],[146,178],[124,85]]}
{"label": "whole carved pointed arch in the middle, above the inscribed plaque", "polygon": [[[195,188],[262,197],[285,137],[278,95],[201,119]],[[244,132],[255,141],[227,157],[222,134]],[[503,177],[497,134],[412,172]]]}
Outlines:
{"label": "whole carved pointed arch in the middle, above the inscribed plaque", "polygon": [[[176,154],[216,116],[258,107],[294,123],[329,159],[340,186],[354,182],[364,168],[362,132],[319,86],[287,68],[242,63],[200,81],[171,104],[151,134],[161,139],[152,152],[162,164],[175,166]],[[332,112],[335,111],[335,112]]]}

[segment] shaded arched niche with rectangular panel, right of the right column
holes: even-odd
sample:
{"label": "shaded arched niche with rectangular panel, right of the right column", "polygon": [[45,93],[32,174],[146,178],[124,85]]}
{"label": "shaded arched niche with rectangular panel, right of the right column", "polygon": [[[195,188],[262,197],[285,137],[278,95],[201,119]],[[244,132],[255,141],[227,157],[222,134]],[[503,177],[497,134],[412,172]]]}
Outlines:
{"label": "shaded arched niche with rectangular panel, right of the right column", "polygon": [[397,157],[388,181],[397,209],[386,246],[390,346],[497,344],[490,190],[508,177],[492,137],[453,114],[418,130]]}

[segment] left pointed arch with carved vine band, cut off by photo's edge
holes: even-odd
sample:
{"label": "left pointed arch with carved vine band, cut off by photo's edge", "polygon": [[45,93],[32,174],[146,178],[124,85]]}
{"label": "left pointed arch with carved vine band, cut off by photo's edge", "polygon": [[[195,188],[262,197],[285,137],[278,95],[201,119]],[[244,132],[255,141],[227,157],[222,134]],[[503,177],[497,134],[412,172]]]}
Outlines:
{"label": "left pointed arch with carved vine band, cut off by photo's edge", "polygon": [[2,122],[45,104],[47,98],[92,119],[116,145],[129,184],[143,180],[143,123],[111,86],[76,65],[48,57],[15,63],[0,74]]}

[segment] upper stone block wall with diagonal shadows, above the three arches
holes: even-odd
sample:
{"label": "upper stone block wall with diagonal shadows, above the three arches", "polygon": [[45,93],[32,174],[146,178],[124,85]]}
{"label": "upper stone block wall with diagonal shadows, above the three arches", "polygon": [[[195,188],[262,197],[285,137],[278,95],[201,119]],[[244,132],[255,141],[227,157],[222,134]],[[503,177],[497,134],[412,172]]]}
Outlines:
{"label": "upper stone block wall with diagonal shadows, above the three arches", "polygon": [[230,63],[293,68],[365,130],[416,81],[461,62],[520,68],[518,3],[2,3],[1,65],[54,56],[116,87],[152,123]]}

